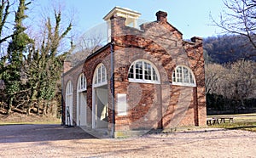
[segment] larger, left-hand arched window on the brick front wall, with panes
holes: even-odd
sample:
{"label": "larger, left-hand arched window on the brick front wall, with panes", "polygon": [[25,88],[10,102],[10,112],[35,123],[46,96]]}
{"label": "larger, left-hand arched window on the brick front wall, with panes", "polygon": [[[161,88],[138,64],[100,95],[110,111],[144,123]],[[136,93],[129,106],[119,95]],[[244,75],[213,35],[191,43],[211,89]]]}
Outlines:
{"label": "larger, left-hand arched window on the brick front wall, with panes", "polygon": [[129,82],[145,82],[160,84],[160,76],[153,64],[146,60],[136,60],[132,63],[129,74]]}

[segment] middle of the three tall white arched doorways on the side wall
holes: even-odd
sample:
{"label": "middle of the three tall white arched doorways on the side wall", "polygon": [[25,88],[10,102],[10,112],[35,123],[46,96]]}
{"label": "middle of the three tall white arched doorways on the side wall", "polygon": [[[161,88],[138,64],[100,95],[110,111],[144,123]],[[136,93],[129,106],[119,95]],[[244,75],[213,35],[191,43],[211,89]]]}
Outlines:
{"label": "middle of the three tall white arched doorways on the side wall", "polygon": [[77,88],[77,125],[87,125],[87,84],[84,74],[79,75],[78,88]]}

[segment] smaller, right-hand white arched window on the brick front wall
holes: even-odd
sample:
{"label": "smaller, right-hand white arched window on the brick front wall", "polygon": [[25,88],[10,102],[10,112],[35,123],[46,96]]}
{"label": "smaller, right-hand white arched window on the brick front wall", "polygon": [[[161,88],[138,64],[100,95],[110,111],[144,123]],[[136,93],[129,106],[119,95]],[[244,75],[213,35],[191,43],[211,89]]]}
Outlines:
{"label": "smaller, right-hand white arched window on the brick front wall", "polygon": [[195,76],[188,67],[178,65],[172,72],[172,84],[195,87]]}

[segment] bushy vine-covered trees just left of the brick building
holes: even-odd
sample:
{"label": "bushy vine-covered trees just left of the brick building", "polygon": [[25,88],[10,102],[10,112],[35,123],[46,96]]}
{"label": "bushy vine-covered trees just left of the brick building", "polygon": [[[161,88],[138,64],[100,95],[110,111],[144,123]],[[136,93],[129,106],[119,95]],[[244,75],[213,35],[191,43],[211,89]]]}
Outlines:
{"label": "bushy vine-covered trees just left of the brick building", "polygon": [[[61,11],[55,11],[55,22],[49,18],[46,20],[43,37],[39,45],[33,45],[26,59],[26,76],[30,87],[29,102],[26,113],[29,115],[33,103],[37,105],[38,113],[43,108],[47,113],[50,103],[54,101],[58,93],[58,83],[61,79],[62,62],[66,55],[72,51],[73,46],[66,52],[61,53],[61,41],[71,31],[72,24],[61,32]],[[60,54],[61,53],[61,54]],[[51,104],[52,106],[54,104]]]}

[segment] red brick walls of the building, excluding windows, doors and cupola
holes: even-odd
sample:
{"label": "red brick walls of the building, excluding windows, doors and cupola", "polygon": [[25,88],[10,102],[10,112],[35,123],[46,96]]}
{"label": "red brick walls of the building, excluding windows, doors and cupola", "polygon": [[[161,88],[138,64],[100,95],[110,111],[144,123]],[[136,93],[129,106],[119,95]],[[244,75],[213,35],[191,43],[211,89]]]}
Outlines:
{"label": "red brick walls of the building, excluding windows, doors and cupola", "polygon": [[[124,18],[112,17],[115,110],[118,93],[127,94],[128,106],[127,116],[115,113],[116,131],[206,124],[202,40],[194,37],[192,42],[184,42],[183,35],[167,22],[166,15],[157,14],[157,21],[142,25],[142,30],[125,26]],[[137,59],[148,60],[156,67],[160,73],[160,84],[128,81],[129,68]],[[93,75],[100,63],[107,68],[108,106],[112,107],[110,60],[108,44],[86,59],[83,65],[89,111],[92,110]],[[172,71],[177,65],[187,66],[193,71],[196,87],[172,85]],[[81,70],[82,67],[77,67],[68,71],[64,83],[72,80],[75,90]],[[76,97],[73,98],[76,104]],[[73,113],[75,116],[76,111],[73,110]],[[112,110],[109,109],[109,122],[112,122],[112,116]],[[91,125],[91,112],[87,114],[87,121]]]}

